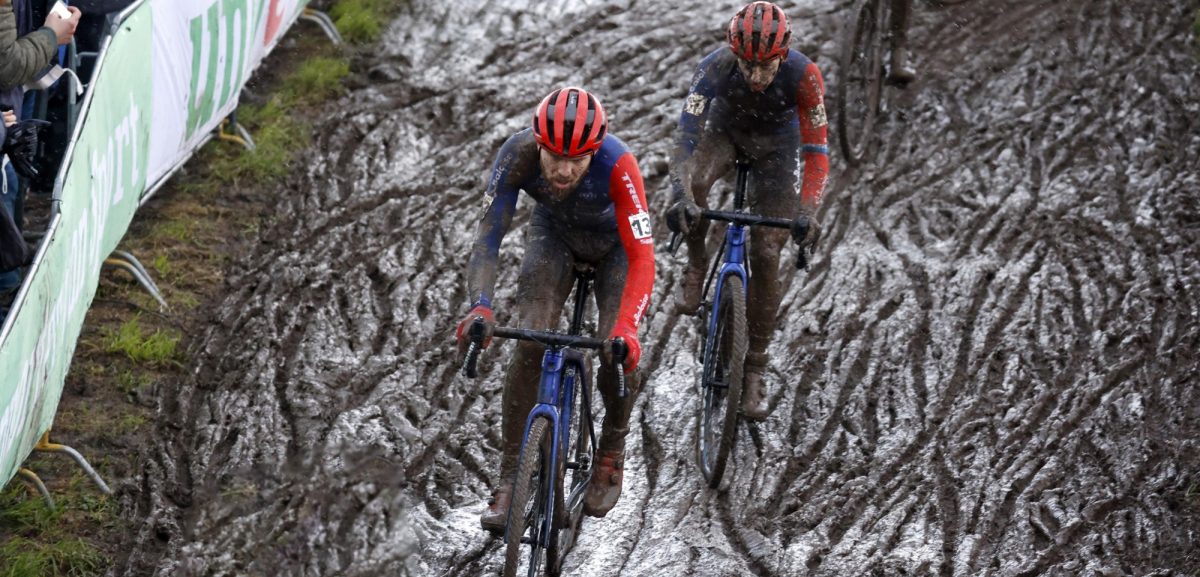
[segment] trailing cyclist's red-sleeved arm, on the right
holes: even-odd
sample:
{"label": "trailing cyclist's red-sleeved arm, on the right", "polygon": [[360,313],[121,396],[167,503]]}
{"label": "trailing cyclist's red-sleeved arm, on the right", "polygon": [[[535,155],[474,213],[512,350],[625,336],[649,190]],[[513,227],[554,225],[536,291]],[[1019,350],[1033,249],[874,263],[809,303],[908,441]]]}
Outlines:
{"label": "trailing cyclist's red-sleeved arm, on the right", "polygon": [[800,151],[804,155],[804,181],[800,204],[815,211],[829,179],[829,140],[824,109],[824,79],[817,65],[809,62],[796,94],[800,116]]}

